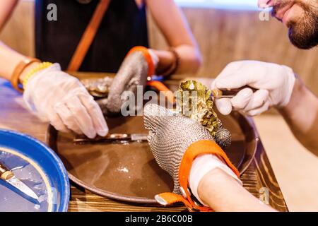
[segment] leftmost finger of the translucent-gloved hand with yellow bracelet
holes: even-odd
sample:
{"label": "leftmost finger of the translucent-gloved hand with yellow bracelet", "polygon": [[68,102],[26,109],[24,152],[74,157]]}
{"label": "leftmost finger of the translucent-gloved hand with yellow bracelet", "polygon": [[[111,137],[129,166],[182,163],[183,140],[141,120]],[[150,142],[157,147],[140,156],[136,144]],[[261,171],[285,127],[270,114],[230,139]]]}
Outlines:
{"label": "leftmost finger of the translucent-gloved hand with yellow bracelet", "polygon": [[66,105],[64,105],[64,103],[55,105],[54,109],[68,129],[74,131],[75,133],[82,134],[82,131],[74,119],[72,112],[68,107],[66,107]]}

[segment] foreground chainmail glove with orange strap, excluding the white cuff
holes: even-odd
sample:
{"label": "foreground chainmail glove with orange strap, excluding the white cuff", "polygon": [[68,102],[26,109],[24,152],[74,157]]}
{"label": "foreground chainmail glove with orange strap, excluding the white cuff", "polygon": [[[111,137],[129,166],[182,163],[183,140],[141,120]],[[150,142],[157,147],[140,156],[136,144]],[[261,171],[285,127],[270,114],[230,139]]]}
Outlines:
{"label": "foreground chainmail glove with orange strap, excluding the white cuff", "polygon": [[239,177],[237,169],[198,121],[154,104],[146,105],[143,114],[145,127],[149,130],[148,143],[155,160],[174,181],[173,194],[158,194],[155,199],[164,206],[181,201],[189,210],[211,210],[192,201],[188,189],[192,162],[199,155],[212,154],[218,157],[220,164],[228,165],[229,170]]}

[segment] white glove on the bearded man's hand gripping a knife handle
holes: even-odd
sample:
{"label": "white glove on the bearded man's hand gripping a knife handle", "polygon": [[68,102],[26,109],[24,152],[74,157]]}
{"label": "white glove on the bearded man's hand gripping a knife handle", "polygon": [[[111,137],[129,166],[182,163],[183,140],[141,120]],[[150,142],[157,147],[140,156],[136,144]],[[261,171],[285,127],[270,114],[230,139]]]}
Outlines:
{"label": "white glove on the bearded man's hand gripping a knife handle", "polygon": [[293,93],[295,74],[288,66],[261,61],[236,61],[228,64],[213,81],[211,88],[242,88],[233,98],[216,100],[221,114],[230,114],[232,108],[249,116],[265,112],[269,107],[288,105]]}

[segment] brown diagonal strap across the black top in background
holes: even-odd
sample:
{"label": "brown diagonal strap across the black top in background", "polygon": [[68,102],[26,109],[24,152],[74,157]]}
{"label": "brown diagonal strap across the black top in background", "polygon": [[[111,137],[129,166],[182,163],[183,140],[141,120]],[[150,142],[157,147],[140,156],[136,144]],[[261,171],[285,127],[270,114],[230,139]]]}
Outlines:
{"label": "brown diagonal strap across the black top in background", "polygon": [[92,44],[95,35],[98,32],[102,18],[104,17],[108,6],[110,6],[110,1],[111,0],[100,0],[93,17],[90,19],[90,23],[81,37],[81,41],[76,47],[76,51],[74,52],[69,63],[69,67],[67,69],[68,71],[78,71],[78,69],[80,69],[88,49],[90,49],[90,45]]}

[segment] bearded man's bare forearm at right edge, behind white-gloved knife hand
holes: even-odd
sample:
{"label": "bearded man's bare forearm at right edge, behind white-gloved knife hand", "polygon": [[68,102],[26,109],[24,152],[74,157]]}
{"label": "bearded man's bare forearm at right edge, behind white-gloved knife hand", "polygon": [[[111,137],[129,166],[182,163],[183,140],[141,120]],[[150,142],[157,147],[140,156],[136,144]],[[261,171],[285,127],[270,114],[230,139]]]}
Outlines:
{"label": "bearded man's bare forearm at right edge, behind white-gloved knife hand", "polygon": [[290,102],[279,111],[302,145],[318,155],[318,98],[300,78],[295,81]]}

